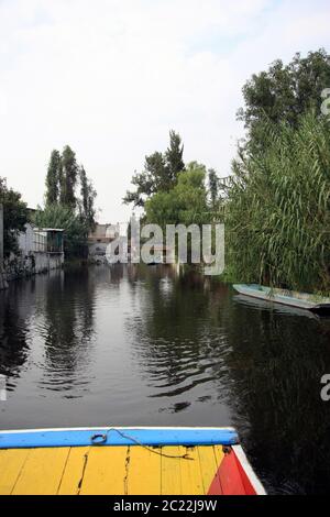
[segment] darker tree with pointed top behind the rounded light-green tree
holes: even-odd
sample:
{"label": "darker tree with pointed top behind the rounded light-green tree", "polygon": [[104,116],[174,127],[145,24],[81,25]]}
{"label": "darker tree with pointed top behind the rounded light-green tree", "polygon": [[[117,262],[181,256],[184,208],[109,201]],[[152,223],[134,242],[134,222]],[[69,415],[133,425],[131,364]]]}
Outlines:
{"label": "darker tree with pointed top behind the rounded light-green tree", "polygon": [[164,154],[156,151],[145,156],[143,172],[135,173],[131,180],[136,188],[134,191],[127,191],[123,202],[143,207],[154,194],[170,190],[177,183],[178,174],[185,168],[183,153],[180,136],[170,131],[169,147]]}

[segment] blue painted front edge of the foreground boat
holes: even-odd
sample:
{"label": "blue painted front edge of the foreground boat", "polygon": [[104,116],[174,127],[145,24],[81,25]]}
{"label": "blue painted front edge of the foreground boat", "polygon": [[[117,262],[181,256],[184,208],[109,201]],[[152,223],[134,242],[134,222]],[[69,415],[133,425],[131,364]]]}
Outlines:
{"label": "blue painted front edge of the foreground boat", "polygon": [[234,446],[232,428],[82,428],[0,431],[0,449],[86,446]]}

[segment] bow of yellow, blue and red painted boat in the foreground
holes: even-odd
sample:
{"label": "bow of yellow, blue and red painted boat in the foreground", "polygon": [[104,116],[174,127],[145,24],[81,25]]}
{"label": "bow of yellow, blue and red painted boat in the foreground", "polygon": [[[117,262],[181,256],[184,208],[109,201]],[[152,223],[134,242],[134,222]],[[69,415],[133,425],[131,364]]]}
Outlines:
{"label": "bow of yellow, blue and red painted boat in the foreground", "polygon": [[232,428],[0,431],[0,494],[264,495]]}

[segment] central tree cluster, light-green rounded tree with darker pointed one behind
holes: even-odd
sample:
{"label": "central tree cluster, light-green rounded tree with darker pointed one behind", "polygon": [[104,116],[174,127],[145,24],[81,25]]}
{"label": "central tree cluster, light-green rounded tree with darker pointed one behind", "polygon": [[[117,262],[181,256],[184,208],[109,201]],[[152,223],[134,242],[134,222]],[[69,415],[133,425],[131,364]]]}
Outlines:
{"label": "central tree cluster, light-green rounded tree with darker pointed one behind", "polygon": [[210,220],[219,205],[219,178],[198,162],[184,163],[184,145],[175,131],[169,132],[169,146],[163,154],[145,157],[144,169],[134,174],[134,191],[123,202],[144,209],[145,222],[160,224],[201,224]]}

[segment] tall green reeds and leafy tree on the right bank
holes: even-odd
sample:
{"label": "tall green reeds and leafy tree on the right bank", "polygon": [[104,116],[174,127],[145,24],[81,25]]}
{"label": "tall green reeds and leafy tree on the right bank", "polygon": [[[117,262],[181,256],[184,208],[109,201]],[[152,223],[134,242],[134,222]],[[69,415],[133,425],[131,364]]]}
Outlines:
{"label": "tall green reeds and leafy tree on the right bank", "polygon": [[237,280],[330,292],[329,85],[330,56],[320,50],[277,61],[243,88],[246,140],[224,212]]}

